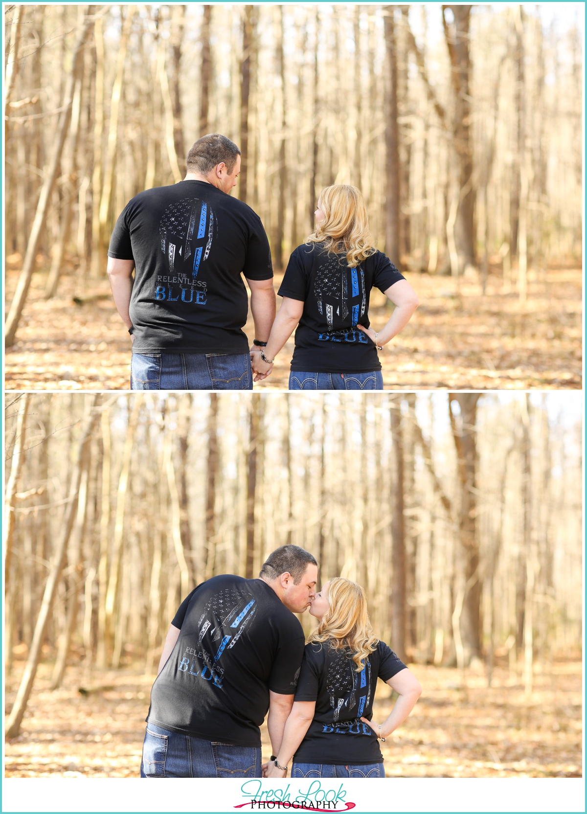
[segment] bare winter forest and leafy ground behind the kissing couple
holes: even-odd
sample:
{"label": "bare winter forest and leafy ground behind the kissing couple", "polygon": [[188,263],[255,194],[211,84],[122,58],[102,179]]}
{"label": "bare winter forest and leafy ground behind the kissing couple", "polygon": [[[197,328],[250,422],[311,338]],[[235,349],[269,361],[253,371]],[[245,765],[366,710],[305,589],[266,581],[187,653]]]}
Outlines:
{"label": "bare winter forest and leafy ground behind the kissing couple", "polygon": [[580,774],[580,394],[345,396],[7,396],[7,775],[136,775],[182,597],[287,542],[424,686],[388,776]]}

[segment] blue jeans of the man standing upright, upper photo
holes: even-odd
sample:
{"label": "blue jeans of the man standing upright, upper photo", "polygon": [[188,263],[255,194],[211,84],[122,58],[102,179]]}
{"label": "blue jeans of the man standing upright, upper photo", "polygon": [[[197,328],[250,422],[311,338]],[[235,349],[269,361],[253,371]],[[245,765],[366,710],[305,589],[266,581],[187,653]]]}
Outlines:
{"label": "blue jeans of the man standing upright, upper photo", "polygon": [[133,353],[131,390],[252,390],[248,353]]}

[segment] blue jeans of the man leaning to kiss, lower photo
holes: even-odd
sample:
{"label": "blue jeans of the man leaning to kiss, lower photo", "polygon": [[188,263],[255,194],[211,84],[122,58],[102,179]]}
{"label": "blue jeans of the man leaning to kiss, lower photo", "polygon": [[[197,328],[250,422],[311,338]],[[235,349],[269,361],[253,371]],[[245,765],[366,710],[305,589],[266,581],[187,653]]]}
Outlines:
{"label": "blue jeans of the man leaning to kiss, lower photo", "polygon": [[147,724],[141,777],[261,777],[261,747],[204,741]]}

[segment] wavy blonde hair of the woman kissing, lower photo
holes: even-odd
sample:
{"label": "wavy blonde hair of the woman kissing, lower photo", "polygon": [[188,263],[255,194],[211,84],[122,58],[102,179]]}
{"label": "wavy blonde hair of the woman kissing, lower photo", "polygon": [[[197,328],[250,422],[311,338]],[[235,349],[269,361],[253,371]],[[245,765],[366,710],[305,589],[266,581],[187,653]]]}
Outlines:
{"label": "wavy blonde hair of the woman kissing, lower photo", "polygon": [[350,650],[357,672],[379,643],[367,613],[367,597],[361,585],[335,576],[328,585],[328,610],[318,628],[310,633],[310,642],[328,642],[334,650]]}

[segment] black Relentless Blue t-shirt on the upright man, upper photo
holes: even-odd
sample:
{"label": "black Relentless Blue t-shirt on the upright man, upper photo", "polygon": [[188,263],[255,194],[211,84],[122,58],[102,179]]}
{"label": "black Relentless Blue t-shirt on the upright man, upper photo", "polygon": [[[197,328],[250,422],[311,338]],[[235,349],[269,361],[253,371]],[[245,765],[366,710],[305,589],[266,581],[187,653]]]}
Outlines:
{"label": "black Relentless Blue t-shirt on the upright man, upper photo", "polygon": [[273,277],[261,219],[204,181],[136,195],[120,213],[109,257],[134,260],[134,353],[245,353],[247,289]]}

